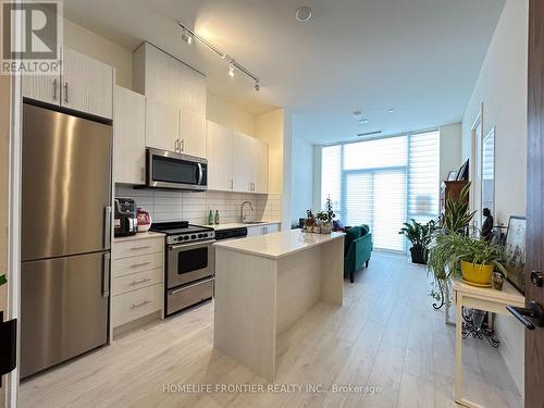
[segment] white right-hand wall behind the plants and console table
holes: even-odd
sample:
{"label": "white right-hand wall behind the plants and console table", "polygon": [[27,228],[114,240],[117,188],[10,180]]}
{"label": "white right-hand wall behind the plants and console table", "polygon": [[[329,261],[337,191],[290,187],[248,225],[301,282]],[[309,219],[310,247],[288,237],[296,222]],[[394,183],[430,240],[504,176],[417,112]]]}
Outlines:
{"label": "white right-hand wall behind the plants and console table", "polygon": [[[528,0],[507,0],[462,119],[462,158],[471,156],[471,126],[483,102],[484,135],[495,126],[495,220],[526,214]],[[523,392],[524,331],[497,317],[499,351]]]}

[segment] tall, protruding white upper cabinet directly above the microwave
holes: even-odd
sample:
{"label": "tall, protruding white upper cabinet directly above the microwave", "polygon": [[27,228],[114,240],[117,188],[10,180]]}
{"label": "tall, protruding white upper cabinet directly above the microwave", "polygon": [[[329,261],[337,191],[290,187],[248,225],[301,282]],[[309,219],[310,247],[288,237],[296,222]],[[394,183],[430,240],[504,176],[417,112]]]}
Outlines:
{"label": "tall, protruding white upper cabinet directly above the microwave", "polygon": [[[177,134],[172,144],[170,133],[161,136],[156,132],[164,115],[157,109],[148,109],[147,146],[185,154],[207,157],[206,151],[206,78],[199,72],[174,59],[157,47],[144,42],[133,53],[133,87],[145,94],[153,104],[163,103],[177,112]],[[170,108],[169,108],[170,110]],[[152,118],[157,115],[157,118]],[[169,120],[172,112],[166,113]],[[171,125],[168,125],[170,131]]]}

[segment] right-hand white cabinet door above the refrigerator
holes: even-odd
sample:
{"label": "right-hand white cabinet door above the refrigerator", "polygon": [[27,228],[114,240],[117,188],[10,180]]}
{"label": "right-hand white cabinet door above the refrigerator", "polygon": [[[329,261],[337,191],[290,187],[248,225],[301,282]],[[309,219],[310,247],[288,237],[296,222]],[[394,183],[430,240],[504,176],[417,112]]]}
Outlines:
{"label": "right-hand white cabinet door above the refrigerator", "polygon": [[64,48],[62,53],[61,104],[102,118],[112,118],[113,69]]}

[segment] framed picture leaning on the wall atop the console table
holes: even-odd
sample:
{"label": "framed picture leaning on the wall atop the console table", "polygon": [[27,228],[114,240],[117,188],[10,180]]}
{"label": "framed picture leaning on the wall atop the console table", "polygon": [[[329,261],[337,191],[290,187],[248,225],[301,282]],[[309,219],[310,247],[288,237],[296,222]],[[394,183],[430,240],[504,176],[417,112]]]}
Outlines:
{"label": "framed picture leaning on the wall atop the console table", "polygon": [[524,217],[510,215],[505,244],[508,282],[522,294],[526,287],[526,225]]}

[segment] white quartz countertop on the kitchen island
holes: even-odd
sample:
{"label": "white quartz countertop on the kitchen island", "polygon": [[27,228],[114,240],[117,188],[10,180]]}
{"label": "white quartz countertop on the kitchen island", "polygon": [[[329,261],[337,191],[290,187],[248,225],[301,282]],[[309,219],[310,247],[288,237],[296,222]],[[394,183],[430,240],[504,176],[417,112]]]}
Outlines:
{"label": "white quartz countertop on the kitchen island", "polygon": [[282,231],[242,239],[215,243],[215,247],[277,259],[318,245],[344,238],[344,233],[311,234],[301,230]]}

